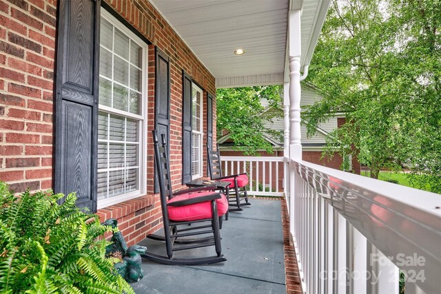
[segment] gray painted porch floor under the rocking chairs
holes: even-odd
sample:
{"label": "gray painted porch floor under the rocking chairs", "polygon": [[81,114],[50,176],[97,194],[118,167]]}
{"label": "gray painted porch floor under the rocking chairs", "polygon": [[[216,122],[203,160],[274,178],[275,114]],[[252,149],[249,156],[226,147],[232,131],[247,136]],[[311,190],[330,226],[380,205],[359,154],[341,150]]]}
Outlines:
{"label": "gray painted porch floor under the rocking chairs", "polygon": [[[132,284],[134,291],[138,294],[286,293],[280,201],[252,198],[250,202],[251,206],[229,213],[229,220],[223,221],[220,235],[226,262],[169,266],[145,261],[143,280]],[[165,245],[161,242],[145,239],[140,244],[165,255]],[[178,251],[174,256],[215,254],[214,246],[209,246]]]}

